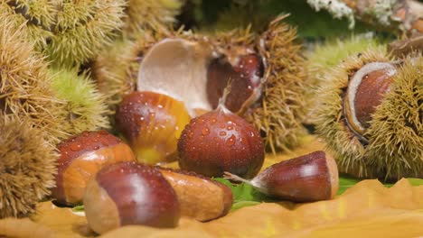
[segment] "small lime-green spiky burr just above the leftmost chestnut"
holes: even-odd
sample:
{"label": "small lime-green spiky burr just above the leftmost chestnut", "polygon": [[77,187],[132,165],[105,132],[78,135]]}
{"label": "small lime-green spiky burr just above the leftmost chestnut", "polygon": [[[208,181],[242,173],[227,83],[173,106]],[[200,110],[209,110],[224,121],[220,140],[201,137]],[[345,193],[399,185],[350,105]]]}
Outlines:
{"label": "small lime-green spiky burr just above the leftmost chestnut", "polygon": [[75,135],[109,127],[108,108],[89,75],[76,69],[51,70],[54,96],[64,102],[59,119],[61,131]]}

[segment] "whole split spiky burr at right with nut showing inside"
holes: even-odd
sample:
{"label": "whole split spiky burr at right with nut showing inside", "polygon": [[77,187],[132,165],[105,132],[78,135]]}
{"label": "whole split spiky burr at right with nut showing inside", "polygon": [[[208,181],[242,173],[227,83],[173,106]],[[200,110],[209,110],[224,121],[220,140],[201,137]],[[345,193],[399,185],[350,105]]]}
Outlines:
{"label": "whole split spiky burr at right with nut showing inside", "polygon": [[[392,59],[370,50],[345,59],[327,75],[319,89],[317,131],[341,171],[364,178],[422,176],[416,160],[422,154],[416,146],[421,144],[421,67],[421,57]],[[369,100],[362,100],[362,93],[370,93]],[[409,103],[401,104],[404,100]]]}

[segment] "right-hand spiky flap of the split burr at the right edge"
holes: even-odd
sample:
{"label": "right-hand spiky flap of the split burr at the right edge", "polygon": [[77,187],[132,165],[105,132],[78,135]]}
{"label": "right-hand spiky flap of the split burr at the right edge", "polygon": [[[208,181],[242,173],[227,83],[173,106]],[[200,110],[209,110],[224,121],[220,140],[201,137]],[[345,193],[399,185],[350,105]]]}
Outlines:
{"label": "right-hand spiky flap of the split burr at the right edge", "polygon": [[405,59],[371,120],[367,166],[375,177],[423,178],[423,57]]}

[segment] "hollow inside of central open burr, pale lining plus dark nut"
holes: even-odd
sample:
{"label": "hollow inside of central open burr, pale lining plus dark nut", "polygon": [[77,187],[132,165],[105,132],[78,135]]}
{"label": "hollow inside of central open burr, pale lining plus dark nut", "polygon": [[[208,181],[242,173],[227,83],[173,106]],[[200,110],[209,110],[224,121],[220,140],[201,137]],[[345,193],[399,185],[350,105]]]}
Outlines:
{"label": "hollow inside of central open burr, pale lining plus dark nut", "polygon": [[259,98],[261,92],[255,89],[261,85],[264,65],[254,53],[228,58],[218,53],[210,41],[164,39],[146,52],[138,71],[137,90],[183,101],[194,117],[199,111],[216,108],[231,80],[225,105],[238,112],[250,98]]}

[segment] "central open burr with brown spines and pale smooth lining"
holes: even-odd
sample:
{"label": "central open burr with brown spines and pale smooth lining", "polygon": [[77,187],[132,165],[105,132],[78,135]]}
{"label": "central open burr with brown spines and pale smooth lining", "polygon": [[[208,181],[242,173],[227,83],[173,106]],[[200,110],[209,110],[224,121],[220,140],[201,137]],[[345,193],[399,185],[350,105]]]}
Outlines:
{"label": "central open burr with brown spines and pale smooth lining", "polygon": [[[133,68],[132,64],[127,64],[131,72],[128,75],[138,75],[138,91],[172,96],[183,101],[190,114],[196,116],[213,109],[225,82],[234,75],[216,67],[216,75],[223,75],[223,79],[217,84],[210,83],[218,87],[209,89],[208,80],[216,80],[208,78],[212,62],[219,59],[225,65],[223,68],[231,67],[229,71],[233,72],[242,65],[239,65],[240,58],[254,56],[257,74],[247,73],[249,77],[242,78],[241,71],[236,72],[242,79],[236,81],[243,87],[235,88],[231,94],[233,98],[247,99],[237,102],[234,107],[242,106],[234,113],[242,114],[255,124],[266,135],[265,142],[272,151],[286,149],[289,144],[297,142],[298,133],[304,132],[301,122],[306,111],[307,83],[303,67],[305,60],[299,53],[300,45],[295,42],[296,31],[282,23],[283,18],[270,23],[268,31],[261,36],[249,32],[249,29],[211,38],[190,32],[146,33],[143,41],[136,44],[136,60],[140,65]],[[216,95],[211,96],[213,102],[208,98],[208,92]]]}

